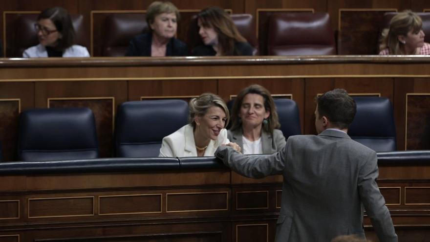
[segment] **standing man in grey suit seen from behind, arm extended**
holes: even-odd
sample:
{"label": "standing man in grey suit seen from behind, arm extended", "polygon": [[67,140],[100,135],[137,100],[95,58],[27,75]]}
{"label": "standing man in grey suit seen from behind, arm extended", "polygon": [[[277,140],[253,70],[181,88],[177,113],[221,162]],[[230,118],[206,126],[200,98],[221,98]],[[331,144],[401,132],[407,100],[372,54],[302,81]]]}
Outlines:
{"label": "standing man in grey suit seen from behind, arm extended", "polygon": [[290,136],[282,151],[245,156],[237,145],[215,155],[237,173],[261,178],[282,174],[276,242],[329,242],[338,235],[365,238],[363,205],[381,242],[397,242],[390,213],[376,184],[377,156],[347,132],[356,105],[344,89],[317,98],[318,135]]}

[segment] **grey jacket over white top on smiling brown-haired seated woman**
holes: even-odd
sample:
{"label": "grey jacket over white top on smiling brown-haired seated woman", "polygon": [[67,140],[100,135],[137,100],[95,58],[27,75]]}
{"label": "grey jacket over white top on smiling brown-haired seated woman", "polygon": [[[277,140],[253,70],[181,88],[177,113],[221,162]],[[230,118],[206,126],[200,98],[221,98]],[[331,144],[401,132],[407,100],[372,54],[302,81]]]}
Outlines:
{"label": "grey jacket over white top on smiling brown-haired seated woman", "polygon": [[[237,129],[235,131],[229,130],[227,132],[227,137],[230,142],[235,142],[243,150],[243,140],[242,140],[242,129]],[[261,145],[263,148],[263,154],[273,154],[279,152],[284,148],[286,142],[285,137],[280,130],[274,130],[273,135],[267,132],[261,132]]]}

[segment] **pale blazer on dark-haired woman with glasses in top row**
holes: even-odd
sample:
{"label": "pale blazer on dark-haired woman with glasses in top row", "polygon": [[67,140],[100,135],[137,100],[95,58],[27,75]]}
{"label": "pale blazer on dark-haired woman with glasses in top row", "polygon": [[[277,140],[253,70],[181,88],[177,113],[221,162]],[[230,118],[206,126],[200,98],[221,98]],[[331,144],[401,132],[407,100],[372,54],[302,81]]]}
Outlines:
{"label": "pale blazer on dark-haired woman with glasses in top row", "polygon": [[[22,53],[22,57],[48,57],[48,52],[46,51],[45,46],[43,46],[42,44],[38,44],[24,50],[24,53]],[[63,57],[89,57],[89,53],[88,50],[86,50],[86,47],[75,44],[64,50]]]}

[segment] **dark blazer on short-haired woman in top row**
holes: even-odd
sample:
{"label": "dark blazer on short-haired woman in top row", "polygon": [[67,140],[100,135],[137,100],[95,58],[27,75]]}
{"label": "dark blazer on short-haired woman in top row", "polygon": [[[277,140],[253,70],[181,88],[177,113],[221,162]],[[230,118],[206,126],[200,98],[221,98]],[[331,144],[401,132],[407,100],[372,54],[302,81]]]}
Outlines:
{"label": "dark blazer on short-haired woman in top row", "polygon": [[[152,34],[140,34],[131,39],[126,56],[151,56]],[[187,56],[187,45],[172,38],[166,47],[166,56]]]}

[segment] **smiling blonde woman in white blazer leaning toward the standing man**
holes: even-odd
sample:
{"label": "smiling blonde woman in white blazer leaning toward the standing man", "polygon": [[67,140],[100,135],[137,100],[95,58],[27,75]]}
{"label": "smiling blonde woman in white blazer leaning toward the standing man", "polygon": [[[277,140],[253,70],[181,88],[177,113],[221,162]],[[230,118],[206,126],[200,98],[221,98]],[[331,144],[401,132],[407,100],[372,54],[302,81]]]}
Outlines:
{"label": "smiling blonde woman in white blazer leaning toward the standing man", "polygon": [[213,93],[203,93],[190,101],[189,124],[163,138],[159,156],[214,156],[220,145],[232,146],[225,126],[229,111],[224,101]]}

